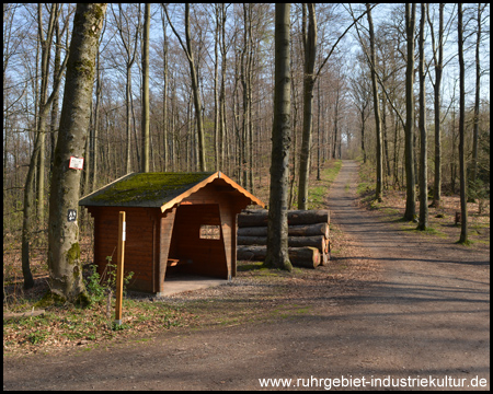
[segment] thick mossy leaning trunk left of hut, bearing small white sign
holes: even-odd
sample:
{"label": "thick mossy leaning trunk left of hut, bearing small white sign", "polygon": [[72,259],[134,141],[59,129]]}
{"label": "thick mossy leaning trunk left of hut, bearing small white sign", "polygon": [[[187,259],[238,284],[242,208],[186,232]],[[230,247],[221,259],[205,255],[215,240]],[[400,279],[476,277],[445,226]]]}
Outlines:
{"label": "thick mossy leaning trunk left of hut, bearing small white sign", "polygon": [[80,171],[68,167],[71,155],[83,152],[89,127],[89,103],[98,40],[106,4],[78,3],[67,65],[60,130],[55,150],[49,198],[48,269],[51,293],[85,304],[79,246]]}

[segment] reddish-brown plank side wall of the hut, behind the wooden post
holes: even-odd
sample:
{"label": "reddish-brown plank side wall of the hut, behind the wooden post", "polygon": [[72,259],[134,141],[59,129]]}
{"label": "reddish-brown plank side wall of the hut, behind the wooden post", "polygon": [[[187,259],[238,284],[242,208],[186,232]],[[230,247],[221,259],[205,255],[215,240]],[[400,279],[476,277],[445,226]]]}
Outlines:
{"label": "reddish-brown plank side wall of the hut, behind the wooden post", "polygon": [[159,208],[130,207],[88,207],[94,218],[94,264],[103,276],[107,256],[116,265],[116,245],[118,236],[118,212],[126,212],[126,241],[124,275],[133,271],[128,288],[156,292],[157,267],[159,256]]}

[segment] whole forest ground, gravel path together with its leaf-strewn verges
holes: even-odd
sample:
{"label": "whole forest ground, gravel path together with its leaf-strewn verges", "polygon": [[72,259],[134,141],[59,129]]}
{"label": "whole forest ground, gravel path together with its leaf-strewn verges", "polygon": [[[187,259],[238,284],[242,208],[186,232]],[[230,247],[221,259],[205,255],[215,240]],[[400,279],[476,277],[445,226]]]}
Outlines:
{"label": "whole forest ground, gravel path together with its leaf-strewn verges", "polygon": [[3,389],[489,390],[489,215],[471,208],[473,243],[459,245],[454,197],[431,209],[433,230],[422,233],[400,220],[401,195],[362,199],[359,176],[344,161],[326,196],[328,266],[283,273],[244,262],[228,285],[133,298],[125,329],[105,338],[56,334],[76,329],[70,306],[70,318],[16,323],[22,340],[4,321]]}

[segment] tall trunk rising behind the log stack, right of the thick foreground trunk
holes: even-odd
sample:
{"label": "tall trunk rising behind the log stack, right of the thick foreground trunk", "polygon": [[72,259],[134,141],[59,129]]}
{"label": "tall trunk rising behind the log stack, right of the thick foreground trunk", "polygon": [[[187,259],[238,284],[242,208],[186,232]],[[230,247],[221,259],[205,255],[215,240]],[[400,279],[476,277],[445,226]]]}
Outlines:
{"label": "tall trunk rising behind the log stack, right of the thick foreground trunk", "polygon": [[[308,27],[306,27],[306,10],[308,8]],[[317,56],[317,19],[314,3],[303,3],[303,132],[301,137],[301,151],[299,161],[298,209],[308,207],[308,185],[310,177],[310,150],[313,129],[313,89],[314,62]]]}

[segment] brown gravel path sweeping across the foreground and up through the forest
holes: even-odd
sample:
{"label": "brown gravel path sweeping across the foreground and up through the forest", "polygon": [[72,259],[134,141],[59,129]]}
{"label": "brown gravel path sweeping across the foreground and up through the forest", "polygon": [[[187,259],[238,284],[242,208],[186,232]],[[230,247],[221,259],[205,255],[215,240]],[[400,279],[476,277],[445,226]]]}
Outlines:
{"label": "brown gravel path sweeping across the foreground and up through the forest", "polygon": [[371,390],[380,379],[399,383],[383,389],[489,390],[489,250],[404,234],[356,207],[356,182],[357,163],[344,161],[328,204],[355,251],[337,258],[381,267],[357,297],[319,300],[300,318],[4,358],[3,389],[272,390],[283,385],[259,380],[290,379],[291,390]]}

